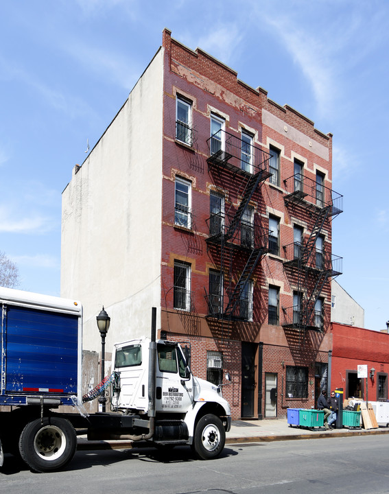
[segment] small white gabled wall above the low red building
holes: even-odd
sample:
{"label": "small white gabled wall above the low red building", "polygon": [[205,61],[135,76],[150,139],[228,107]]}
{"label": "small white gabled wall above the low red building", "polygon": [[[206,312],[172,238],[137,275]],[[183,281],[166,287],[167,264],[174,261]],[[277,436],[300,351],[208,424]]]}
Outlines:
{"label": "small white gabled wall above the low red building", "polygon": [[364,309],[335,280],[331,281],[331,297],[331,322],[364,327]]}

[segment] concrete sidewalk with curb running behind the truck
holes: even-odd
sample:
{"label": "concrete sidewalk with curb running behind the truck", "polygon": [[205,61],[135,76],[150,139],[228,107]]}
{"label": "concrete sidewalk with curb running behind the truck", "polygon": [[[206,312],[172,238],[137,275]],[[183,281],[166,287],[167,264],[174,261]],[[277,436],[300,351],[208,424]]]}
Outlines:
{"label": "concrete sidewalk with curb running behind the truck", "polygon": [[[389,427],[377,429],[343,427],[342,429],[325,430],[325,427],[298,427],[288,425],[287,419],[265,419],[253,421],[233,421],[231,431],[226,434],[226,444],[259,443],[275,440],[317,439],[333,437],[362,436],[366,434],[389,434]],[[78,449],[130,449],[130,440],[99,440],[88,441],[82,436],[78,438]]]}

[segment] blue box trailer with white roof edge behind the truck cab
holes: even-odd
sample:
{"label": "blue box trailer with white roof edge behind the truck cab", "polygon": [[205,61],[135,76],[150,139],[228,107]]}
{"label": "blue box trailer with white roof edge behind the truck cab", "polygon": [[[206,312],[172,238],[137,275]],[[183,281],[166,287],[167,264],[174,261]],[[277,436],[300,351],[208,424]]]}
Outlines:
{"label": "blue box trailer with white roof edge behind the truck cab", "polygon": [[82,305],[0,287],[0,405],[73,405],[82,391]]}

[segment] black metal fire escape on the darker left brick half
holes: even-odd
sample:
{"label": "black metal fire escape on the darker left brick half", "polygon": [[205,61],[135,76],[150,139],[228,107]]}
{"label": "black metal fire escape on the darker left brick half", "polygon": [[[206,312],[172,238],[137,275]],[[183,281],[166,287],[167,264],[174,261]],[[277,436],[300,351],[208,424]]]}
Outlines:
{"label": "black metal fire escape on the darker left brick half", "polygon": [[[243,158],[241,139],[228,132],[219,132],[223,132],[224,148],[213,149],[213,137],[211,137],[208,141],[210,156],[207,162],[217,174],[226,173],[232,176],[233,183],[235,185],[239,183],[242,192],[239,194],[241,201],[236,209],[231,204],[229,211],[218,213],[219,228],[211,227],[215,224],[214,215],[207,220],[209,224],[207,243],[213,244],[218,249],[220,279],[224,280],[221,291],[225,292],[228,298],[224,301],[222,296],[220,303],[216,305],[209,303],[208,316],[231,320],[245,318],[239,310],[242,294],[261,258],[268,252],[268,230],[257,224],[255,220],[257,215],[252,215],[252,222],[245,222],[244,217],[250,207],[250,200],[271,175],[266,169],[270,155],[254,145],[251,145],[250,149],[246,145]],[[240,275],[237,275],[233,262],[237,255],[244,263]],[[207,290],[206,298],[211,301]]]}

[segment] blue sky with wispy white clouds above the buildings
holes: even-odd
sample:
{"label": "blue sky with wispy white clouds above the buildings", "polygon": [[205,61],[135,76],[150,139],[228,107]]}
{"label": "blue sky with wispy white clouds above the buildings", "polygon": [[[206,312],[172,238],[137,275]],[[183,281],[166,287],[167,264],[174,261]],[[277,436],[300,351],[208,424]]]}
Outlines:
{"label": "blue sky with wispy white clouds above the buildings", "polygon": [[389,320],[389,1],[13,0],[0,19],[0,250],[21,288],[60,294],[61,193],[164,27],[333,134],[338,282]]}

